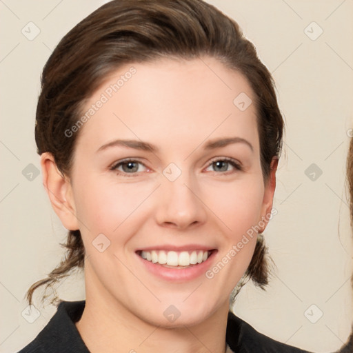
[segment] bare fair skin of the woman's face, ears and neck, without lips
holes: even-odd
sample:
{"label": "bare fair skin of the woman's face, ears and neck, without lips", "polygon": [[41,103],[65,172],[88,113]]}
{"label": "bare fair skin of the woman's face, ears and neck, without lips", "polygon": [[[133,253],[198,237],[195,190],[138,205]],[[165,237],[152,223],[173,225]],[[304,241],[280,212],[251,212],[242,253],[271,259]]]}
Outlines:
{"label": "bare fair skin of the woman's face, ears and neck, without lips", "polygon": [[[217,250],[212,268],[270,214],[276,159],[264,182],[255,106],[241,112],[233,103],[241,92],[254,101],[254,93],[242,74],[210,57],[125,65],[85,108],[131,66],[136,74],[81,127],[70,178],[51,154],[41,156],[52,206],[65,228],[81,231],[85,245],[86,305],[77,329],[92,353],[225,352],[229,296],[248,268],[256,236],[212,279],[165,281],[135,252],[201,244]],[[252,148],[238,142],[205,150],[209,141],[228,137]],[[115,145],[97,152],[117,139],[146,141],[159,151]],[[212,165],[225,157],[241,170]],[[111,169],[126,158],[141,162],[133,175],[126,165]],[[175,181],[163,175],[170,163],[181,170]],[[104,252],[92,245],[98,234],[110,240]],[[174,322],[163,315],[170,305],[180,312]]]}

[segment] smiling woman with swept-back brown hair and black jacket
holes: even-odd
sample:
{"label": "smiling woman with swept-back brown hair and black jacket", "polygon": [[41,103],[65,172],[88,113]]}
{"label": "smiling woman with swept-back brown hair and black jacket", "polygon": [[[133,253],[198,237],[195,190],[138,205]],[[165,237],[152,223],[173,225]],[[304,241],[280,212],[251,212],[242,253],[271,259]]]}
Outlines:
{"label": "smiling woman with swept-back brown hair and black jacket", "polygon": [[305,352],[229,312],[268,283],[283,119],[237,24],[199,0],[111,1],[46,63],[36,142],[68,253],[85,273],[25,352]]}

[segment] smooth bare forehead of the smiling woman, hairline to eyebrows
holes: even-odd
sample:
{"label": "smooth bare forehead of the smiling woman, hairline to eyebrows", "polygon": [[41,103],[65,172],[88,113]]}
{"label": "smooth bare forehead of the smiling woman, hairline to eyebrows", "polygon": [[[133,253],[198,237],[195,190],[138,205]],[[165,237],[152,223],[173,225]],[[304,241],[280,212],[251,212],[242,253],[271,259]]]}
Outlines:
{"label": "smooth bare forehead of the smiling woman, hairline to eyebrows", "polygon": [[130,63],[112,72],[85,103],[79,141],[88,148],[138,138],[178,148],[236,135],[259,148],[253,102],[243,74],[213,58]]}

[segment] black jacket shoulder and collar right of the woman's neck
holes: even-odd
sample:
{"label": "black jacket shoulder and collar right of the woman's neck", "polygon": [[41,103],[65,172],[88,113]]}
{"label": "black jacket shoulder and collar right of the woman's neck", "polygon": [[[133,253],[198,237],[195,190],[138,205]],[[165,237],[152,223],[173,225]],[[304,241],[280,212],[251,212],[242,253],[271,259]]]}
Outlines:
{"label": "black jacket shoulder and collar right of the woman's neck", "polygon": [[226,339],[232,350],[239,353],[310,353],[261,334],[232,312],[228,313]]}

